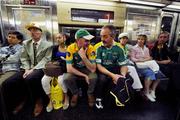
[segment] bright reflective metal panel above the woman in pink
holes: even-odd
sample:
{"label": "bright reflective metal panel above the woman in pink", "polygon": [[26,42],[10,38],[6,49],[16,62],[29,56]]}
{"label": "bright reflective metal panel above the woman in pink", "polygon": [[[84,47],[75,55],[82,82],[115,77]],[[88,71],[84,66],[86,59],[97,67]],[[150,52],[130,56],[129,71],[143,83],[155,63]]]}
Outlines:
{"label": "bright reflective metal panel above the woman in pink", "polygon": [[131,33],[131,40],[136,41],[137,35],[146,34],[149,41],[154,41],[158,30],[158,16],[139,13],[128,13],[127,31]]}

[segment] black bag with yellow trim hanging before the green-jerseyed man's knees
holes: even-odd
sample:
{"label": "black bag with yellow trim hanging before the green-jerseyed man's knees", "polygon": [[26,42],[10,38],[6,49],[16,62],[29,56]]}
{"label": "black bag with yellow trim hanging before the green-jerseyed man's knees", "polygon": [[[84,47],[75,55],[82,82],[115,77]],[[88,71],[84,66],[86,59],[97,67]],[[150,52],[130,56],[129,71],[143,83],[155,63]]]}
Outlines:
{"label": "black bag with yellow trim hanging before the green-jerseyed man's knees", "polygon": [[130,76],[118,79],[116,86],[110,91],[115,99],[116,106],[125,106],[130,101],[133,91],[132,84],[133,79]]}

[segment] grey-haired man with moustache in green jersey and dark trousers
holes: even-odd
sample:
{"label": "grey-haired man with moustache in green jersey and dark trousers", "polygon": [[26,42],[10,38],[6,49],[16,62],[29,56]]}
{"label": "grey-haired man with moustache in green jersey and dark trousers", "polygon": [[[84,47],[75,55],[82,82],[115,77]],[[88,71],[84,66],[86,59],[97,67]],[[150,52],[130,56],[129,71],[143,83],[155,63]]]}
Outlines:
{"label": "grey-haired man with moustache in green jersey and dark trousers", "polygon": [[[123,50],[116,45],[114,39],[116,36],[116,29],[113,25],[106,25],[102,27],[101,43],[97,43],[94,48],[96,50],[96,63],[98,72],[98,84],[96,91],[96,107],[103,109],[102,98],[106,88],[112,88],[119,78],[124,78],[128,72],[126,60]],[[98,46],[98,47],[97,47]]]}

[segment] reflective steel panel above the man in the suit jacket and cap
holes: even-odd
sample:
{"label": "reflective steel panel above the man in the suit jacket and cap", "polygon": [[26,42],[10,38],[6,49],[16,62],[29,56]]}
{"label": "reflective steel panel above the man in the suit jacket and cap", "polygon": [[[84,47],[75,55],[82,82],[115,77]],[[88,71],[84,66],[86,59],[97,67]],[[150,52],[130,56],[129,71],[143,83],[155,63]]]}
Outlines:
{"label": "reflective steel panel above the man in the suit jacket and cap", "polygon": [[[18,30],[22,32],[26,39],[29,33],[25,26],[29,23],[39,24],[44,33],[44,37],[51,39],[53,32],[52,27],[52,8],[51,6],[29,6],[29,5],[11,5],[4,4],[2,7],[2,23],[1,27],[4,36],[7,35],[9,30]],[[3,44],[6,44],[4,38]]]}

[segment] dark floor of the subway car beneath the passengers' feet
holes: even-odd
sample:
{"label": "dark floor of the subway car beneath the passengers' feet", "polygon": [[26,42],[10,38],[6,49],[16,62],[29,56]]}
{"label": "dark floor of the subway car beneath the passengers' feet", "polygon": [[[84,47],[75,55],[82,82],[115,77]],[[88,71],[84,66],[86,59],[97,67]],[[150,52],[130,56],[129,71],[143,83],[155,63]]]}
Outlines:
{"label": "dark floor of the subway car beneath the passengers' feet", "polygon": [[174,100],[167,95],[163,89],[158,89],[157,101],[155,103],[144,101],[140,96],[124,108],[110,108],[103,110],[90,109],[87,99],[80,97],[76,108],[62,109],[43,113],[34,118],[28,107],[25,107],[19,114],[9,116],[8,120],[174,120],[176,105]]}

